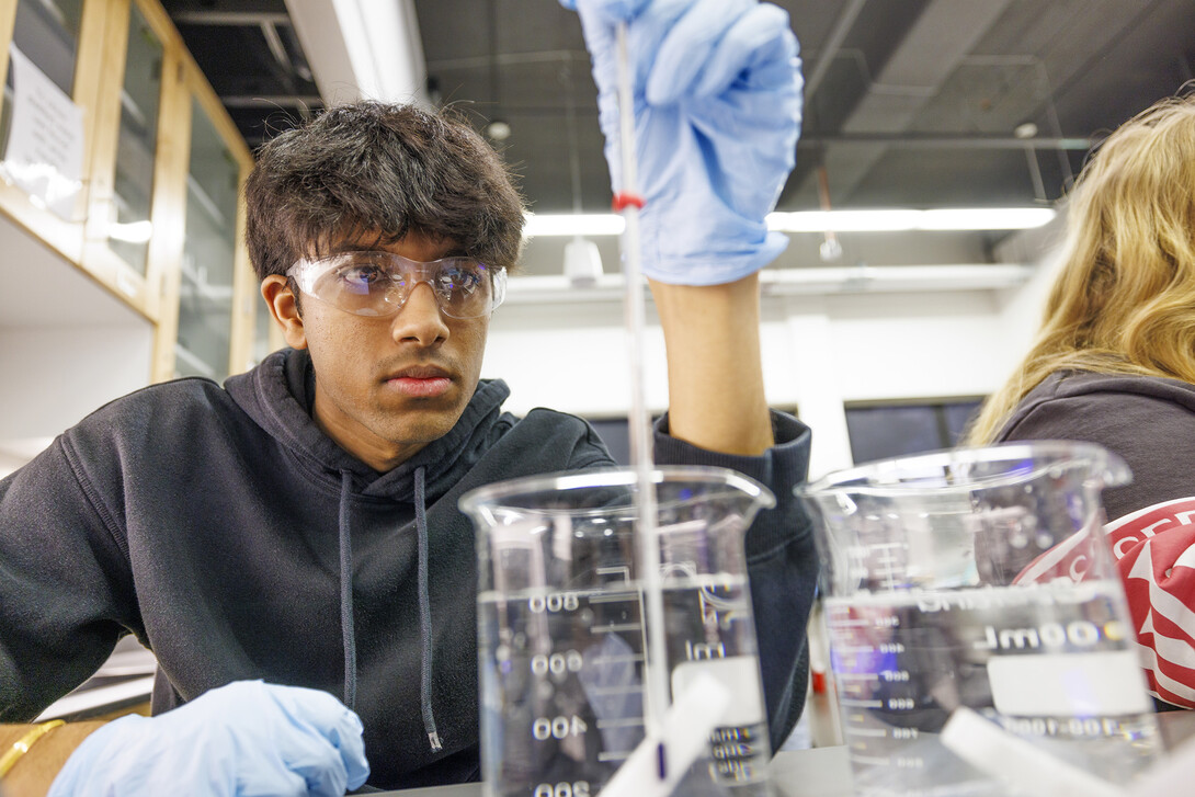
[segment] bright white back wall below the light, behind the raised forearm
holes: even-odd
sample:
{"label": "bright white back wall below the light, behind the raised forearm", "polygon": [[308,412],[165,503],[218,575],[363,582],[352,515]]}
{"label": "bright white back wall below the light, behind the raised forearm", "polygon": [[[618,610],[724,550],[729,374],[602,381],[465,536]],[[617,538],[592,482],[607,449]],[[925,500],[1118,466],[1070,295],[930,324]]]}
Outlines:
{"label": "bright white back wall below the light, behind the raised forearm", "polygon": [[[811,474],[852,464],[844,403],[985,396],[1024,354],[1053,278],[1042,255],[1050,231],[1009,259],[1041,259],[1032,278],[1009,290],[767,296],[762,356],[768,401],[799,409],[814,430]],[[511,388],[507,409],[552,406],[589,417],[625,416],[629,366],[621,305],[510,302],[497,312],[483,375]],[[663,342],[650,312],[646,403],[667,405]]]}

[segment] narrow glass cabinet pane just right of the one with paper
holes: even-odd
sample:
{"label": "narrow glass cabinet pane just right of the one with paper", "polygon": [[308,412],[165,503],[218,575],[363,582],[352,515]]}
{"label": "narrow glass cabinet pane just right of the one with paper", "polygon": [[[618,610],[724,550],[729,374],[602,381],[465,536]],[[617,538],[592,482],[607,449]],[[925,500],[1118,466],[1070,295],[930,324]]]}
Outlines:
{"label": "narrow glass cabinet pane just right of the one with paper", "polygon": [[158,148],[163,43],[136,4],[129,13],[128,42],[110,209],[114,217],[106,233],[112,252],[143,275],[152,232],[149,203]]}

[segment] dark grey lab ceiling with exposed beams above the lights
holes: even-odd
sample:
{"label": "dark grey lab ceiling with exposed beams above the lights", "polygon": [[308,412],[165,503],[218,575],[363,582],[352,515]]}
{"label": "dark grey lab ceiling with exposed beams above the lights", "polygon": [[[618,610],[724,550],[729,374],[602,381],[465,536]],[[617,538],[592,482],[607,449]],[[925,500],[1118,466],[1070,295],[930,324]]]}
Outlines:
{"label": "dark grey lab ceiling with exposed beams above the lights", "polygon": [[[326,2],[289,5],[313,1]],[[413,11],[431,102],[479,130],[509,125],[495,145],[533,210],[608,209],[595,88],[572,12],[556,0],[393,2]],[[251,147],[320,108],[300,44],[318,44],[318,31],[299,36],[283,0],[164,5]],[[778,5],[805,75],[797,168],[780,210],[819,207],[820,167],[834,208],[1053,203],[1091,142],[1177,92],[1195,68],[1195,0]],[[983,259],[995,240],[972,234],[964,252],[946,246],[942,257]],[[883,257],[868,246],[848,247],[848,258]]]}

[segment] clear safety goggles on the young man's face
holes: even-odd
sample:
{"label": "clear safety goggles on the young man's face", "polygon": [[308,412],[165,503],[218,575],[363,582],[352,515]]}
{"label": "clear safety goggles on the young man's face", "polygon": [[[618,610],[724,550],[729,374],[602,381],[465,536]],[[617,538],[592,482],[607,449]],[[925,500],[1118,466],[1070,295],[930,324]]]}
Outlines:
{"label": "clear safety goggles on the young man's face", "polygon": [[341,252],[299,260],[287,276],[305,294],[354,315],[393,315],[421,282],[451,318],[489,315],[507,295],[505,268],[471,257],[421,263],[393,252]]}

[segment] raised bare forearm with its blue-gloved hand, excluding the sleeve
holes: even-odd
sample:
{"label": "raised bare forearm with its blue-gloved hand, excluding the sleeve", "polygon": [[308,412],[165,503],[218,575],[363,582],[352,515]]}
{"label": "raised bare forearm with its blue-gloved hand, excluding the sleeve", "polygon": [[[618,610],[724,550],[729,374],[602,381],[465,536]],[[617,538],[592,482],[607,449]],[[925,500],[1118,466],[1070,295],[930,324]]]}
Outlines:
{"label": "raised bare forearm with its blue-gloved hand, excluding the sleeve", "polygon": [[[565,5],[574,5],[565,1]],[[627,29],[643,272],[668,352],[669,433],[700,448],[772,445],[756,271],[788,244],[765,216],[796,160],[801,62],[788,14],[758,0],[576,0],[621,190],[618,47]]]}

